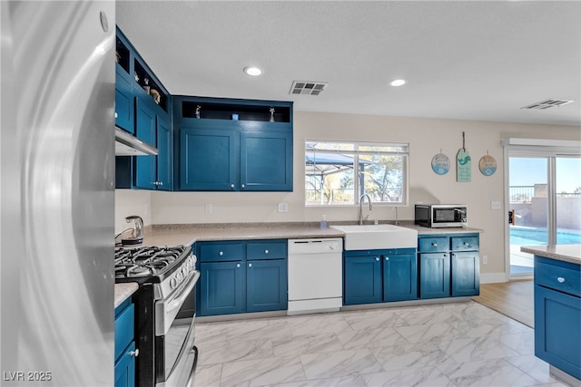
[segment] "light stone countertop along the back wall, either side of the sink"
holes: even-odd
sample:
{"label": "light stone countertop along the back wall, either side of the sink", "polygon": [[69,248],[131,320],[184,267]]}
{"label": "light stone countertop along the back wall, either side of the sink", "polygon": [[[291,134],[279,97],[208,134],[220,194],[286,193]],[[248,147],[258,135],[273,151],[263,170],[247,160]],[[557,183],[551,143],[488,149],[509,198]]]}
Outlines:
{"label": "light stone countertop along the back wall, either side of the sink", "polygon": [[[331,222],[334,225],[357,222]],[[409,227],[425,234],[481,233],[472,227],[428,228],[401,221],[401,227]],[[143,228],[143,246],[190,246],[197,241],[244,240],[244,239],[301,239],[320,237],[345,237],[345,233],[330,227],[320,228],[318,222],[281,223],[229,223],[229,224],[177,224],[153,225]]]}

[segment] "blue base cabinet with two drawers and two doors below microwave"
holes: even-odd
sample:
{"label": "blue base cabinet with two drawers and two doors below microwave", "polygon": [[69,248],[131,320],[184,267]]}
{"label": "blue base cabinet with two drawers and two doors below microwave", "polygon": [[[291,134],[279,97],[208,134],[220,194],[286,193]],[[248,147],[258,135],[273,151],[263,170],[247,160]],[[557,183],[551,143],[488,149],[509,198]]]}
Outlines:
{"label": "blue base cabinet with two drawers and two doors below microwave", "polygon": [[418,238],[419,297],[478,295],[478,234],[427,235]]}

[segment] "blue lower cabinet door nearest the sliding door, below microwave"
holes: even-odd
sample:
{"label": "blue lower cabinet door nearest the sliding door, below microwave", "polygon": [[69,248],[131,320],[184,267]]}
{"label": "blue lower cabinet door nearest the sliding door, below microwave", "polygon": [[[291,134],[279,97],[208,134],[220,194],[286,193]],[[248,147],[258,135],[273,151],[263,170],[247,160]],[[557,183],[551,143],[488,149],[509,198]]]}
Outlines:
{"label": "blue lower cabinet door nearest the sliding door, below microwave", "polygon": [[452,253],[452,296],[480,294],[478,251]]}

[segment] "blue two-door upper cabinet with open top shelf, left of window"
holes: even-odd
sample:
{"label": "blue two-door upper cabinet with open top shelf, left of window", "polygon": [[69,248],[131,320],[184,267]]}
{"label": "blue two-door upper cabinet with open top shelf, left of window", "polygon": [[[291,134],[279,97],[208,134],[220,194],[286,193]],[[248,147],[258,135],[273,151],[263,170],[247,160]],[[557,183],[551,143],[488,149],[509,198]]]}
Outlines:
{"label": "blue two-door upper cabinet with open top shelf, left of window", "polygon": [[291,191],[292,102],[173,97],[179,190]]}

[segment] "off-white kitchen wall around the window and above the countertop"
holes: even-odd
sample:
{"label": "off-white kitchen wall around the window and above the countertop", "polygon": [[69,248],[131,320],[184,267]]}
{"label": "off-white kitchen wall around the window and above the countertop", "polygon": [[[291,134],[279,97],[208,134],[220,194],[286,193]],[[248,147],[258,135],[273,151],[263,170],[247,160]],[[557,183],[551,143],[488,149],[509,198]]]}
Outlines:
{"label": "off-white kitchen wall around the window and above the countertop", "polygon": [[[466,132],[466,148],[472,158],[472,181],[458,183],[454,160],[462,147],[462,131]],[[239,223],[318,221],[325,214],[330,221],[356,220],[358,209],[305,208],[304,206],[304,141],[360,140],[409,142],[409,207],[399,208],[399,219],[413,218],[413,204],[461,203],[468,205],[468,222],[484,229],[480,256],[488,256],[481,267],[484,274],[505,272],[504,220],[507,207],[490,209],[490,201],[504,200],[504,160],[500,140],[509,137],[553,140],[580,140],[576,127],[494,123],[484,121],[452,121],[400,118],[357,114],[294,112],[294,191],[293,192],[140,192],[117,190],[117,232],[124,229],[123,218],[141,215],[147,224],[168,223]],[[431,160],[439,151],[453,163],[446,175],[431,169]],[[486,154],[497,160],[497,172],[484,176],[478,160]],[[288,203],[289,212],[277,212],[277,203]],[[212,213],[204,205],[212,204]],[[151,208],[151,215],[144,208]],[[375,205],[369,219],[391,220],[393,208]]]}

